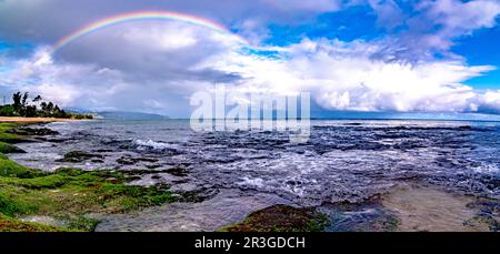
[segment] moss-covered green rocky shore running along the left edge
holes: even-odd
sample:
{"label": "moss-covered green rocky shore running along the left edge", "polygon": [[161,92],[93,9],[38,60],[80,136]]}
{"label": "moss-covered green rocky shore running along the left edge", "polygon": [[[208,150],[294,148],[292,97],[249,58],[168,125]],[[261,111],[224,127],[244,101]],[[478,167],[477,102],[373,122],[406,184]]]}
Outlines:
{"label": "moss-covered green rocky shore running along the left edge", "polygon": [[[57,134],[26,123],[0,123],[0,148],[6,153],[24,152],[13,144]],[[74,152],[68,158],[82,154]],[[144,172],[71,167],[48,172],[22,166],[1,153],[0,231],[94,231],[99,221],[88,216],[92,213],[126,213],[201,199],[192,192],[172,192],[164,184],[129,184],[141,173]]]}

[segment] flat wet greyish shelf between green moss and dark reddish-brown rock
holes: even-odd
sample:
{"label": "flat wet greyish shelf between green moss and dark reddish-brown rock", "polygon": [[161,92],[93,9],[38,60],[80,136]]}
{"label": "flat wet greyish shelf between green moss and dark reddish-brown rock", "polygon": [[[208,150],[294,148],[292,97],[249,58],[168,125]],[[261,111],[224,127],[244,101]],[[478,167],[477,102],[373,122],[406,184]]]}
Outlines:
{"label": "flat wet greyish shelf between green moss and dark reddish-brown rock", "polygon": [[200,203],[171,203],[140,213],[96,215],[101,221],[96,231],[217,231],[241,222],[256,210],[276,204],[291,205],[289,201],[271,194],[221,190],[212,199]]}

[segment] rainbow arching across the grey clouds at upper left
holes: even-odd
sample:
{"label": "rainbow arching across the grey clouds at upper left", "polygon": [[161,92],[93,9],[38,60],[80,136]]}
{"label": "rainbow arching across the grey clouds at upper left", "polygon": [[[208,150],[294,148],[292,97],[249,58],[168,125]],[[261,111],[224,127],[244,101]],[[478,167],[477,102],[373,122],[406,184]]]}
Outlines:
{"label": "rainbow arching across the grey clouds at upper left", "polygon": [[223,26],[216,23],[211,20],[194,17],[194,16],[188,16],[171,11],[139,11],[139,12],[130,12],[130,13],[122,13],[118,16],[108,17],[101,20],[98,20],[93,23],[90,23],[83,28],[80,28],[79,30],[72,32],[71,34],[62,38],[59,40],[52,48],[52,52],[56,52],[60,50],[61,48],[68,45],[72,41],[86,37],[90,33],[93,33],[96,31],[109,28],[111,26],[126,23],[126,22],[132,22],[132,21],[141,21],[141,20],[174,20],[174,21],[181,21],[194,26],[200,26],[210,30],[213,30],[219,33],[224,34],[231,34],[233,35],[240,43],[243,45],[249,45],[249,42],[244,40],[243,38],[232,33],[229,29],[224,28]]}

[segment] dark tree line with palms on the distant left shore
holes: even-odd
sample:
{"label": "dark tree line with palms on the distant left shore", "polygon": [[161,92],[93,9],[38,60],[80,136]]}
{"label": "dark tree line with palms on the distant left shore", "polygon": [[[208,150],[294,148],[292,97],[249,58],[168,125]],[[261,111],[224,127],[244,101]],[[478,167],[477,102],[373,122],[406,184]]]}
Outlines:
{"label": "dark tree line with palms on the distant left shore", "polygon": [[30,100],[28,92],[16,92],[12,94],[12,104],[0,108],[0,116],[92,119],[92,114],[66,112],[59,105],[43,101],[40,95]]}

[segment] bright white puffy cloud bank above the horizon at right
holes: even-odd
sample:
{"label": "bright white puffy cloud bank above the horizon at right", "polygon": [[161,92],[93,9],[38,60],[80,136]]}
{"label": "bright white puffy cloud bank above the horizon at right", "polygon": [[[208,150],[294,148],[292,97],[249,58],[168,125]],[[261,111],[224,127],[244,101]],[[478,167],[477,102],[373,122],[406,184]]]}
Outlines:
{"label": "bright white puffy cloud bank above the horizon at right", "polygon": [[477,111],[486,96],[491,98],[462,82],[493,67],[468,67],[460,61],[387,62],[371,58],[379,47],[362,41],[303,40],[283,49],[279,59],[236,55],[218,64],[246,78],[240,90],[311,91],[329,110]]}

